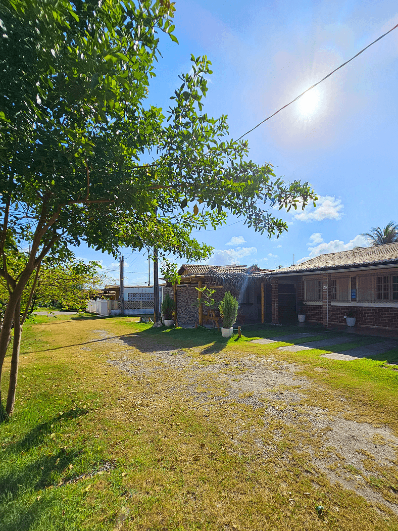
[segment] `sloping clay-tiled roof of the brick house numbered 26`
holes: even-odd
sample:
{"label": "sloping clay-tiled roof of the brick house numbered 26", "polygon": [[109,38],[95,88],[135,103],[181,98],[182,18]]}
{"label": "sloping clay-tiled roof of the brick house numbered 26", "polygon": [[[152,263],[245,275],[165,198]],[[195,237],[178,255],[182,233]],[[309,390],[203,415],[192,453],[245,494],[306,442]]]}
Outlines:
{"label": "sloping clay-tiled roof of the brick house numbered 26", "polygon": [[374,247],[355,247],[350,251],[340,251],[339,253],[321,254],[301,264],[275,269],[269,274],[282,275],[285,273],[300,273],[320,269],[364,267],[365,265],[388,264],[390,262],[398,262],[398,242],[376,245]]}

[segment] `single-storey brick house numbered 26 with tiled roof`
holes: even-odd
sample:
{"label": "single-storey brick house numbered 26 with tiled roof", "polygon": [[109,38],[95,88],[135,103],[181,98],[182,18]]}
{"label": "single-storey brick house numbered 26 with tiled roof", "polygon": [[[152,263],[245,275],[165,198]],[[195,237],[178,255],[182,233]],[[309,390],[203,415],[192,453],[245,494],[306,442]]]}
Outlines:
{"label": "single-storey brick house numbered 26 with tiled roof", "polygon": [[322,254],[268,275],[275,324],[302,300],[309,322],[345,324],[353,310],[356,326],[398,329],[398,243]]}

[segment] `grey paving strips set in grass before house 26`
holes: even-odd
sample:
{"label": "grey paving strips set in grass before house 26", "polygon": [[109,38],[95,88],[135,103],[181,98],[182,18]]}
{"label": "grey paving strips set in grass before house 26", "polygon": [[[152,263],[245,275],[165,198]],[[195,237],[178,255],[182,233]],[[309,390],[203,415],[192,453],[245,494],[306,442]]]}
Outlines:
{"label": "grey paving strips set in grass before house 26", "polygon": [[[321,336],[322,339],[316,339],[315,341],[305,340],[305,338],[315,336]],[[296,342],[297,339],[304,339],[304,341]],[[341,361],[352,361],[353,359],[359,358],[371,358],[373,356],[379,356],[381,354],[384,354],[392,348],[398,347],[397,338],[378,338],[379,341],[377,341],[377,338],[374,337],[375,342],[369,345],[353,347],[349,349],[344,348],[344,344],[357,342],[359,339],[359,337],[353,337],[351,334],[347,335],[347,333],[343,333],[341,336],[330,337],[328,333],[317,334],[314,332],[302,332],[289,334],[287,336],[272,337],[269,339],[255,339],[252,341],[252,343],[257,343],[259,345],[270,345],[272,343],[281,341],[283,341],[284,343],[290,343],[295,341],[295,344],[285,345],[277,348],[278,350],[285,350],[288,352],[301,352],[302,350],[312,349],[330,350],[330,352],[322,354],[321,357],[339,359]],[[339,349],[339,345],[342,346],[341,349]],[[330,349],[328,347],[332,348]]]}

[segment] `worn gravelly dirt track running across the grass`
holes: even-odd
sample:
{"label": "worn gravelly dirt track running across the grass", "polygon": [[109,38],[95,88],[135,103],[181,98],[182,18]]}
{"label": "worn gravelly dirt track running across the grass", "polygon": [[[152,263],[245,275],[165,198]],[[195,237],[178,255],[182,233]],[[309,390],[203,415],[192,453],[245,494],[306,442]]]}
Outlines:
{"label": "worn gravelly dirt track running across the grass", "polygon": [[[106,334],[97,330],[101,337]],[[349,403],[338,414],[307,405],[304,391],[312,382],[300,375],[297,365],[255,355],[233,361],[201,358],[164,345],[159,350],[145,345],[145,351],[139,352],[126,350],[125,340],[110,338],[109,342],[123,347],[123,352],[116,349],[110,354],[110,364],[134,377],[163,375],[169,393],[210,416],[220,404],[241,405],[247,417],[263,408],[262,423],[255,428],[248,429],[244,415],[220,426],[236,446],[251,438],[253,451],[260,450],[265,459],[280,455],[283,461],[289,459],[289,452],[281,453],[280,443],[290,431],[295,434],[296,451],[307,459],[304,474],[324,474],[376,507],[383,504],[398,514],[398,438],[388,427],[345,419]]]}

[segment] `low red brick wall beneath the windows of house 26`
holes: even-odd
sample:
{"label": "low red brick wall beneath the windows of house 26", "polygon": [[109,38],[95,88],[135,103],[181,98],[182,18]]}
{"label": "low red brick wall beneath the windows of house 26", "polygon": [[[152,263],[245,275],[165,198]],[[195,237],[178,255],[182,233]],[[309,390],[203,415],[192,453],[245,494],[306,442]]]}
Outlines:
{"label": "low red brick wall beneath the windows of house 26", "polygon": [[[345,324],[344,315],[351,306],[332,306],[330,309],[330,324]],[[375,308],[366,306],[356,307],[356,326],[398,329],[398,308]]]}

